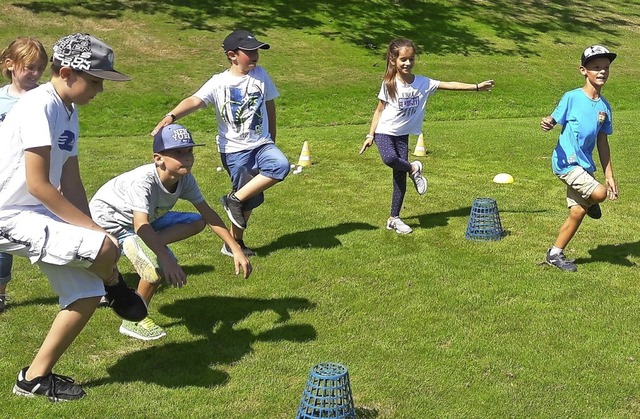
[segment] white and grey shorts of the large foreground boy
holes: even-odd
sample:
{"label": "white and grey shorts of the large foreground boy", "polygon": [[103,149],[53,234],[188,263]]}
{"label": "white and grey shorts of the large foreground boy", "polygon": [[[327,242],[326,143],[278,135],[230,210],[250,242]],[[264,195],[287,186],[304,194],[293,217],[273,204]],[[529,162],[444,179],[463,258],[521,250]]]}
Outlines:
{"label": "white and grey shorts of the large foreground boy", "polygon": [[0,252],[29,258],[49,278],[61,308],[104,295],[102,279],[86,268],[106,234],[68,224],[45,207],[0,210]]}

